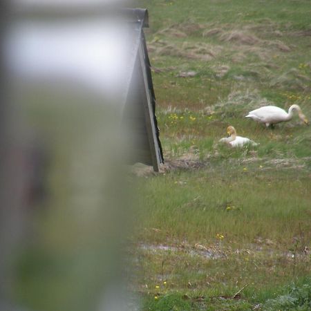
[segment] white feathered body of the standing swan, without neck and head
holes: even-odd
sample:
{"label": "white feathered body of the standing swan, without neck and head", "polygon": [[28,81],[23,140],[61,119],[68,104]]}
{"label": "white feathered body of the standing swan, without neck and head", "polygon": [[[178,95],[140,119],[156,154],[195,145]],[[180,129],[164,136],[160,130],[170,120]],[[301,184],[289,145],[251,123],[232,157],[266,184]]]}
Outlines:
{"label": "white feathered body of the standing swan, without neck and head", "polygon": [[246,117],[264,123],[277,123],[285,121],[288,113],[276,106],[263,106],[261,108],[250,111]]}

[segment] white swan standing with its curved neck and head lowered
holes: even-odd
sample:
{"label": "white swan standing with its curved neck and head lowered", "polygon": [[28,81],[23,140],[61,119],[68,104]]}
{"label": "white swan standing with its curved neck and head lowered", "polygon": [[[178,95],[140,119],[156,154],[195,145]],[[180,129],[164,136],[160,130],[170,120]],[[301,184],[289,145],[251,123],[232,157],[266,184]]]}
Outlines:
{"label": "white swan standing with its curved neck and head lowered", "polygon": [[250,117],[255,121],[265,123],[266,126],[274,126],[279,122],[287,122],[292,120],[293,112],[297,111],[299,118],[305,123],[309,124],[307,117],[302,113],[300,107],[296,104],[290,106],[288,113],[276,106],[263,106],[261,108],[250,111],[245,117]]}

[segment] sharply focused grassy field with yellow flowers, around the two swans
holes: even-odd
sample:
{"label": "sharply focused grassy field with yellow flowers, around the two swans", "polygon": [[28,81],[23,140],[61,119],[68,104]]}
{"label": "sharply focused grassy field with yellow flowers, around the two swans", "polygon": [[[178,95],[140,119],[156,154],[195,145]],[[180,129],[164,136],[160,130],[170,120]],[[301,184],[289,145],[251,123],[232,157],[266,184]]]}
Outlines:
{"label": "sharply focused grassy field with yellow flowers, around the two swans", "polygon": [[[138,167],[142,310],[310,310],[309,1],[140,1],[165,167]],[[231,149],[227,126],[258,147]],[[308,294],[307,294],[308,293]]]}

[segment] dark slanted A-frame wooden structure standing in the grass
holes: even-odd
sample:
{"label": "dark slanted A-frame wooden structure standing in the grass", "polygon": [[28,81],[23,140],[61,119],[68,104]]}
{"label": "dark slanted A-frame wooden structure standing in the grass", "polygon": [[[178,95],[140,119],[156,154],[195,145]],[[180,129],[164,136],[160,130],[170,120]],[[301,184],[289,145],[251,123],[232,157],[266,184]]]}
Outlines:
{"label": "dark slanted A-frame wooden structure standing in the grass", "polygon": [[126,99],[124,117],[131,120],[131,130],[135,138],[133,162],[152,165],[159,171],[160,163],[164,162],[160,131],[156,117],[156,96],[153,89],[151,64],[144,27],[149,27],[148,11],[144,9],[124,10],[135,30],[133,59],[135,64],[131,73],[129,92]]}

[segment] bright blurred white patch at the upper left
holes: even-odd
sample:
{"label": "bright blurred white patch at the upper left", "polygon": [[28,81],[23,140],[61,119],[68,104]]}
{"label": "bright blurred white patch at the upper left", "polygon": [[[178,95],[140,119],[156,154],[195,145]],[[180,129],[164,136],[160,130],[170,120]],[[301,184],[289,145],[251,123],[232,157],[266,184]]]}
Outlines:
{"label": "bright blurred white patch at the upper left", "polygon": [[121,22],[19,22],[7,47],[13,75],[27,82],[83,84],[105,95],[125,91],[133,63],[131,32]]}

